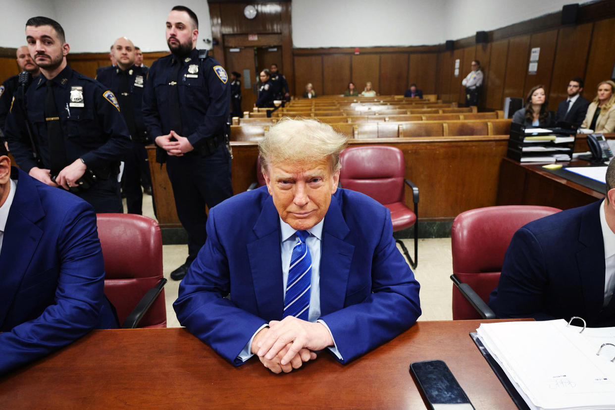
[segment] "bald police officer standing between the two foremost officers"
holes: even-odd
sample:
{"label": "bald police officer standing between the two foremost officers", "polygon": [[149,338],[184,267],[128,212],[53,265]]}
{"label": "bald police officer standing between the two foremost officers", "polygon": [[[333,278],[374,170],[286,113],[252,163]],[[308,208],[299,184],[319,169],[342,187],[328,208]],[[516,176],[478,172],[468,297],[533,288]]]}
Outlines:
{"label": "bald police officer standing between the two foremost officers", "polygon": [[132,137],[132,152],[127,152],[124,159],[122,189],[126,196],[128,213],[141,215],[143,213],[141,184],[151,186],[145,150],[145,145],[151,143],[151,138],[145,128],[141,112],[148,70],[135,65],[135,46],[126,37],[117,39],[113,43],[112,51],[117,66],[102,67],[97,71],[96,79],[116,95]]}

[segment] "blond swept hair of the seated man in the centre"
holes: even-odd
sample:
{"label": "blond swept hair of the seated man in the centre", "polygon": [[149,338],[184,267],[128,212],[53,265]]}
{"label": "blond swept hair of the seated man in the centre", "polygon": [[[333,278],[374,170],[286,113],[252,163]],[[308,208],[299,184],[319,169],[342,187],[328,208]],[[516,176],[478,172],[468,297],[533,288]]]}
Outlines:
{"label": "blond swept hair of the seated man in the centre", "polygon": [[283,117],[258,143],[258,152],[264,173],[271,164],[305,164],[326,157],[330,160],[331,170],[336,172],[341,169],[339,153],[346,144],[346,136],[319,120]]}

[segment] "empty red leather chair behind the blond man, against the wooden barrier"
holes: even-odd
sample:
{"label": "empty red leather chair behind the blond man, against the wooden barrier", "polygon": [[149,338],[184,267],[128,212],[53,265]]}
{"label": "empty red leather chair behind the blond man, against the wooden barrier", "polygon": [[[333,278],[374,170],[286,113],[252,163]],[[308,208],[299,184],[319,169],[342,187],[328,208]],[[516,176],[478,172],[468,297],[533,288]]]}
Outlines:
{"label": "empty red leather chair behind the blond man, against the wooden barrier", "polygon": [[[418,263],[418,204],[419,189],[405,179],[406,165],[403,152],[390,146],[358,146],[346,148],[341,153],[342,169],[339,174],[341,186],[353,191],[363,192],[382,203],[391,211],[393,231],[415,226],[415,258],[410,258],[403,242],[396,240],[402,247],[410,265]],[[414,211],[405,203],[404,183],[412,188]]]}

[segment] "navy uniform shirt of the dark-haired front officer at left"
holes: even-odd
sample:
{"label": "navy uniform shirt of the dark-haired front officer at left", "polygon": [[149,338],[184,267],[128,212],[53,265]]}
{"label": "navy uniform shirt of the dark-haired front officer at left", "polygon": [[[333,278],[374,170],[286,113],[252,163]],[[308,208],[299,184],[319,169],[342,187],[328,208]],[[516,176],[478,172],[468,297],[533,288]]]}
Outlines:
{"label": "navy uniform shirt of the dark-haired front officer at left", "polygon": [[54,79],[34,77],[26,91],[26,112],[16,95],[6,121],[6,138],[15,161],[25,172],[36,167],[30,137],[24,126],[27,118],[38,143],[43,166],[49,168],[49,143],[45,121],[46,82],[54,81],[55,105],[64,136],[66,160],[81,158],[88,168],[108,169],[132,149],[130,135],[113,92],[100,82],[66,66]]}

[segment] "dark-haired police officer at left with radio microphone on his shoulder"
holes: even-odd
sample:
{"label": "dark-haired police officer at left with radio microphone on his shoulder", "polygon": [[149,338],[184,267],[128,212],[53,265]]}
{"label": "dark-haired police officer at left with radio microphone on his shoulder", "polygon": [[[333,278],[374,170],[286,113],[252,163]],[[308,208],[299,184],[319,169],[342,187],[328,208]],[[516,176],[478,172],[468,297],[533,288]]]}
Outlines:
{"label": "dark-haired police officer at left with radio microphone on his shoulder", "polygon": [[115,96],[66,64],[70,47],[55,20],[30,18],[26,41],[41,74],[25,94],[17,90],[7,117],[17,165],[43,183],[74,192],[97,213],[122,212],[117,172],[130,135]]}

